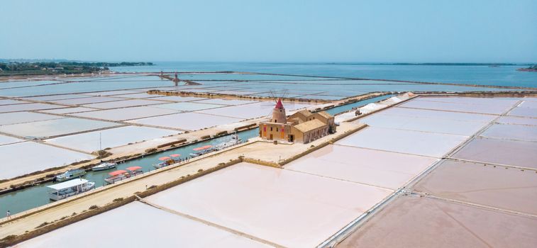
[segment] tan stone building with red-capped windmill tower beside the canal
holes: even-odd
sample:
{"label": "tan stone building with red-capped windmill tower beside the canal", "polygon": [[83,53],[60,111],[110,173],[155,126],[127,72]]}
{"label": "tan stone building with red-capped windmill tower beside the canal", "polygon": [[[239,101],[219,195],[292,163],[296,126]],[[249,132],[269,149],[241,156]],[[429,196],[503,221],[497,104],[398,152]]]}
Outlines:
{"label": "tan stone building with red-capped windmill tower beside the canal", "polygon": [[332,115],[325,111],[302,110],[288,118],[281,99],[272,110],[272,118],[259,125],[259,136],[265,140],[308,143],[329,133],[336,133]]}

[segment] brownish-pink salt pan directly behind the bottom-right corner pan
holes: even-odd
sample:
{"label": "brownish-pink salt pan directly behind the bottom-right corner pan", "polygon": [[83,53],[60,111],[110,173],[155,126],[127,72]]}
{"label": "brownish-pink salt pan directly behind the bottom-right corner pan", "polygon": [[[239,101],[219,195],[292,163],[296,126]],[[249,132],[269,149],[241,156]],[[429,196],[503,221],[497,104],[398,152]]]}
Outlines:
{"label": "brownish-pink salt pan directly behind the bottom-right corner pan", "polygon": [[445,160],[414,186],[433,196],[537,215],[535,171]]}

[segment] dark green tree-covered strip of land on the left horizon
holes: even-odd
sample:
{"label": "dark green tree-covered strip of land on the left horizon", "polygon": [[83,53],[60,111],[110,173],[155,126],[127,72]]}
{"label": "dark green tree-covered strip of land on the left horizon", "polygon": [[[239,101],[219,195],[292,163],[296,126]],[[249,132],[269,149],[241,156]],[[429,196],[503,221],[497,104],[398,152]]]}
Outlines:
{"label": "dark green tree-covered strip of land on the left horizon", "polygon": [[153,65],[152,62],[0,62],[1,76],[82,74],[109,71],[109,67]]}

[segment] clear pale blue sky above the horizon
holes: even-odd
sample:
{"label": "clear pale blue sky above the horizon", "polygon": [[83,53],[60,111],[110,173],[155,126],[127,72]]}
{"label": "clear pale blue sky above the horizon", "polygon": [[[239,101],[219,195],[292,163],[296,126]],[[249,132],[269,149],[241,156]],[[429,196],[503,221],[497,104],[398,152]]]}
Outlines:
{"label": "clear pale blue sky above the horizon", "polygon": [[28,1],[0,58],[537,62],[537,1]]}

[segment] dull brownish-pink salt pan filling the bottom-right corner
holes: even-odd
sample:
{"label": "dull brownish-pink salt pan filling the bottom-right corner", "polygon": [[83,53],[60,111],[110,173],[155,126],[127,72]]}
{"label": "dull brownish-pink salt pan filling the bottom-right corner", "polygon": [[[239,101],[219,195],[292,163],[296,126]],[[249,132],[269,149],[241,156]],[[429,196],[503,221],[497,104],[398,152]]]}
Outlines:
{"label": "dull brownish-pink salt pan filling the bottom-right corner", "polygon": [[337,247],[537,247],[537,218],[400,196]]}

